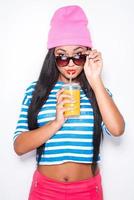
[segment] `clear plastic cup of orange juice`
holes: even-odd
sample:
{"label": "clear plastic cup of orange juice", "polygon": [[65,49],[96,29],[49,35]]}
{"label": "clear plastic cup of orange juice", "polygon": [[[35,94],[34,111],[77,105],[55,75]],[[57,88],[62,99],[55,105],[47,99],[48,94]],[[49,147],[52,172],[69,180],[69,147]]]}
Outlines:
{"label": "clear plastic cup of orange juice", "polygon": [[64,112],[65,117],[75,117],[80,115],[80,85],[78,83],[67,83],[63,85],[63,94],[71,95],[73,102],[65,103],[65,108],[71,108]]}

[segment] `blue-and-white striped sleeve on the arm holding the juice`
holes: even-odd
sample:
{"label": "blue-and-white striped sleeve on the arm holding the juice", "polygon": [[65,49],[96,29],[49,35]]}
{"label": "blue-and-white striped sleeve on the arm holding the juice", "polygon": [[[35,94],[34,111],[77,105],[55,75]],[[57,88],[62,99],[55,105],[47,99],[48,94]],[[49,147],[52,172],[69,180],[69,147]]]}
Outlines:
{"label": "blue-and-white striped sleeve on the arm holding the juice", "polygon": [[13,135],[13,140],[17,138],[22,132],[29,131],[28,129],[28,108],[31,103],[32,93],[34,91],[36,82],[32,82],[26,89],[24,98],[21,104],[20,115]]}

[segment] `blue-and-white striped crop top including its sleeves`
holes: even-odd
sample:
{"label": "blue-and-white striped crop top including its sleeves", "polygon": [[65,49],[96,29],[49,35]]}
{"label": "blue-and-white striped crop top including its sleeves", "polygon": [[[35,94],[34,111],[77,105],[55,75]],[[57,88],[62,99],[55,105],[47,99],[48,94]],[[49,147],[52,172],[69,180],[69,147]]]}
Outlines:
{"label": "blue-and-white striped crop top including its sleeves", "polygon": [[[63,82],[57,82],[49,94],[49,98],[38,114],[39,127],[55,119],[56,93],[61,89]],[[21,113],[17,123],[14,140],[24,131],[28,131],[27,112],[31,102],[36,82],[26,90],[22,102]],[[93,160],[93,126],[94,117],[90,100],[83,90],[80,91],[80,116],[67,119],[63,126],[45,144],[39,162],[40,165],[61,164],[72,161],[78,163],[92,163]],[[105,124],[102,130],[110,135]],[[100,155],[98,161],[100,160]]]}

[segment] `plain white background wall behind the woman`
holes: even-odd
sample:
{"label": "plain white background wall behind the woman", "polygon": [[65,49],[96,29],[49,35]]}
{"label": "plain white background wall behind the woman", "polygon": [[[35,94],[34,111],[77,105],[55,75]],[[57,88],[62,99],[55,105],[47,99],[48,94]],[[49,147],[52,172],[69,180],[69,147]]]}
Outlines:
{"label": "plain white background wall behind the woman", "polygon": [[134,200],[134,3],[133,0],[0,0],[0,199],[27,200],[35,152],[13,150],[13,133],[24,91],[37,79],[46,55],[53,12],[80,5],[89,18],[94,48],[102,52],[104,84],[126,122],[119,138],[101,148],[104,200]]}

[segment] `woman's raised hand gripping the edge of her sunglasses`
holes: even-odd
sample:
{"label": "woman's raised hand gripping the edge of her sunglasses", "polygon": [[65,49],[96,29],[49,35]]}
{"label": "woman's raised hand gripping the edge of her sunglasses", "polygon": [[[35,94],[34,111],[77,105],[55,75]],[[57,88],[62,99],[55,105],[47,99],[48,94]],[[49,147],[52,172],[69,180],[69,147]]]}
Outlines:
{"label": "woman's raised hand gripping the edge of her sunglasses", "polygon": [[96,49],[88,50],[86,52],[87,58],[84,65],[84,72],[89,81],[89,84],[92,87],[92,84],[96,81],[96,79],[100,78],[101,71],[103,67],[103,60],[101,57],[101,53],[98,52]]}

